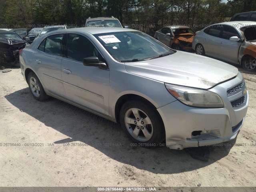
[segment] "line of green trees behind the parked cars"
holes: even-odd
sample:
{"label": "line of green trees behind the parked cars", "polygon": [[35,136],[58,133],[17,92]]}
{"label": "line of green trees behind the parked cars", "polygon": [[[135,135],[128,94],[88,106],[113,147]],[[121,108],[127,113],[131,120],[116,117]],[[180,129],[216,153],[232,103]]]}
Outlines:
{"label": "line of green trees behind the parked cars", "polygon": [[255,10],[256,0],[0,0],[0,28],[83,27],[89,16],[114,16],[129,28],[154,35],[163,26],[200,30]]}

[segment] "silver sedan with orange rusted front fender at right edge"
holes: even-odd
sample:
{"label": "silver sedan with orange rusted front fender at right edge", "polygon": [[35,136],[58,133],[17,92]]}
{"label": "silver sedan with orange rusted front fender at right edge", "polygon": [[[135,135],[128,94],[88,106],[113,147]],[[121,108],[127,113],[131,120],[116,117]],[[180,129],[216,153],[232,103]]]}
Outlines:
{"label": "silver sedan with orange rusted front fender at right edge", "polygon": [[256,71],[256,22],[232,21],[213,24],[196,32],[196,54],[207,55]]}

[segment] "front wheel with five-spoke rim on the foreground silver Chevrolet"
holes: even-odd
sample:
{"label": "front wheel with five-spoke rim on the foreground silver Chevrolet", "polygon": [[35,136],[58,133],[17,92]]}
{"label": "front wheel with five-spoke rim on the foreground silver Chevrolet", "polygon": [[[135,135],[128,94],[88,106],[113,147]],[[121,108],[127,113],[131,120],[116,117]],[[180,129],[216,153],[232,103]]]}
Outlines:
{"label": "front wheel with five-spoke rim on the foreground silver Chevrolet", "polygon": [[144,101],[127,101],[120,110],[120,124],[132,141],[140,146],[158,146],[165,139],[160,115]]}

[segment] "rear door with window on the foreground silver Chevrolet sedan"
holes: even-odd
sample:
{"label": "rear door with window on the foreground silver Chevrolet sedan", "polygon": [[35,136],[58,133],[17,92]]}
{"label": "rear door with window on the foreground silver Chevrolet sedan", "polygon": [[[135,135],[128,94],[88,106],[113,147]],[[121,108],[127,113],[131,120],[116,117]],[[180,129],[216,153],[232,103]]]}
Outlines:
{"label": "rear door with window on the foreground silver Chevrolet sedan", "polygon": [[48,91],[60,96],[65,95],[61,76],[63,37],[64,33],[60,33],[44,38],[33,54],[40,81]]}

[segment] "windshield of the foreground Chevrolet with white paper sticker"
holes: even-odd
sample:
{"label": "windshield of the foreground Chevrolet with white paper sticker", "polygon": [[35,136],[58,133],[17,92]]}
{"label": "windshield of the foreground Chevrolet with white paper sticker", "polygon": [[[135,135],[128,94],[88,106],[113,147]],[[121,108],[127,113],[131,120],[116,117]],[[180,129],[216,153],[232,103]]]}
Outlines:
{"label": "windshield of the foreground Chevrolet with white paper sticker", "polygon": [[174,51],[142,32],[112,32],[94,35],[120,62],[135,62],[173,54]]}

